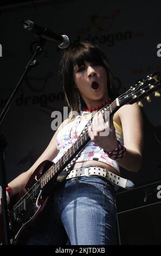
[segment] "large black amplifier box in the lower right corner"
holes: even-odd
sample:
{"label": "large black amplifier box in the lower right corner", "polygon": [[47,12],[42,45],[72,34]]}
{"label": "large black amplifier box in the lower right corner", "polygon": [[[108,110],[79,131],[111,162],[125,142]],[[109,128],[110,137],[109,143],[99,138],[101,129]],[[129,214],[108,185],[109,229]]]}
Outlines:
{"label": "large black amplifier box in the lower right corner", "polygon": [[161,180],[116,193],[118,244],[161,245]]}

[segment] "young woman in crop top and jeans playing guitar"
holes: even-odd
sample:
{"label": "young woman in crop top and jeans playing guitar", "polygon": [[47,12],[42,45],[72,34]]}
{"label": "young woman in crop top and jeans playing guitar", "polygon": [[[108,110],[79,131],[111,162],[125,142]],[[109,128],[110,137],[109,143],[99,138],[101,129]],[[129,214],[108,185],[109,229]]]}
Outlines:
{"label": "young woman in crop top and jeans playing guitar", "polygon": [[[105,54],[90,42],[70,45],[61,58],[60,75],[69,118],[55,132],[48,147],[27,171],[10,182],[10,197],[21,192],[44,160],[57,162],[73,145],[83,127],[91,141],[74,162],[67,179],[57,186],[34,227],[28,245],[114,245],[116,205],[108,172],[119,166],[138,172],[143,144],[143,122],[137,103],[124,105],[105,123],[99,109],[114,100],[113,76]],[[74,111],[79,115],[75,117]],[[109,131],[109,134],[104,133]]]}

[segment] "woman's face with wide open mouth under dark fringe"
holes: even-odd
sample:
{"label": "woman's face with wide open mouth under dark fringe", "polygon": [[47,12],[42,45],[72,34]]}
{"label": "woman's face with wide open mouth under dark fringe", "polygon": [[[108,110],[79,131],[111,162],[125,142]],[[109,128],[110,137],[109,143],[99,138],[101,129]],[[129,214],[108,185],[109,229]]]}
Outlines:
{"label": "woman's face with wide open mouth under dark fringe", "polygon": [[107,73],[103,66],[86,62],[74,67],[74,82],[88,107],[107,99]]}

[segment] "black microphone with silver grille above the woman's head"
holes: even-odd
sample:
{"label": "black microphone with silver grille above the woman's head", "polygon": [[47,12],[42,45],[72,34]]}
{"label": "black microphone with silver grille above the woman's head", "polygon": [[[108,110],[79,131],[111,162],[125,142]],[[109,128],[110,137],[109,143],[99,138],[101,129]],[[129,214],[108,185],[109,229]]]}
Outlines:
{"label": "black microphone with silver grille above the woman's head", "polygon": [[33,32],[36,36],[40,36],[41,38],[44,38],[51,42],[55,42],[55,44],[57,44],[60,48],[67,48],[70,44],[67,35],[57,35],[53,31],[51,31],[51,29],[38,26],[30,20],[25,20],[21,22],[23,23],[23,27],[25,29]]}

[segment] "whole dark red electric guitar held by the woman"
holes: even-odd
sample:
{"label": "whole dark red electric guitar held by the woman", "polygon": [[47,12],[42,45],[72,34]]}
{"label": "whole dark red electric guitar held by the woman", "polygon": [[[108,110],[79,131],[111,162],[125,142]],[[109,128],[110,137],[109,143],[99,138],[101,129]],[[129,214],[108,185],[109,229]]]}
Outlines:
{"label": "whole dark red electric guitar held by the woman", "polygon": [[[139,81],[133,87],[130,87],[127,92],[117,97],[112,103],[108,103],[99,112],[101,111],[104,115],[105,111],[109,111],[110,116],[112,116],[121,106],[127,103],[132,104],[137,102],[152,92],[154,92],[155,96],[159,96],[157,89],[160,87],[160,73],[156,72],[147,76],[144,80]],[[150,101],[149,96],[147,96],[147,100]],[[37,220],[37,217],[41,214],[48,201],[50,193],[53,192],[54,186],[56,186],[57,182],[63,181],[68,175],[65,169],[67,170],[70,163],[90,141],[88,126],[91,125],[91,122],[92,119],[89,120],[75,144],[56,163],[48,160],[42,162],[31,175],[25,186],[25,190],[16,197],[11,198],[8,206],[9,238],[11,245],[18,243],[18,240],[23,235],[23,231]],[[4,240],[2,230],[2,218],[0,218],[1,245]]]}

